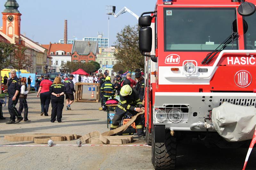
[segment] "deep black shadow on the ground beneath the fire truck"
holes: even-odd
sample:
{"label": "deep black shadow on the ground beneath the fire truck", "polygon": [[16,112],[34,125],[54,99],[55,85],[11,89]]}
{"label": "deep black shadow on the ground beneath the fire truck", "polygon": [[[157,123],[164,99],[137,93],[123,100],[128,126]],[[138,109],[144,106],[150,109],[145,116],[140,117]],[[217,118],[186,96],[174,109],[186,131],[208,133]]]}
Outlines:
{"label": "deep black shadow on the ground beneath the fire truck", "polygon": [[[248,149],[207,148],[203,144],[180,144],[177,149],[176,169],[240,170]],[[255,169],[255,152],[251,153],[247,170]]]}

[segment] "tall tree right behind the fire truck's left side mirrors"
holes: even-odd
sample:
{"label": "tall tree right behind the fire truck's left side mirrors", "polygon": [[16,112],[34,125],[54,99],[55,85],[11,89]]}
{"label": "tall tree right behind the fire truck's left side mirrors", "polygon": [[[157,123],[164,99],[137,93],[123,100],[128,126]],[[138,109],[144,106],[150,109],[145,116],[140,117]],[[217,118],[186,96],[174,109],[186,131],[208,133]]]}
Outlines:
{"label": "tall tree right behind the fire truck's left side mirrors", "polygon": [[115,72],[123,70],[135,70],[136,68],[144,69],[144,57],[139,50],[139,25],[126,25],[116,36],[115,57],[117,60]]}

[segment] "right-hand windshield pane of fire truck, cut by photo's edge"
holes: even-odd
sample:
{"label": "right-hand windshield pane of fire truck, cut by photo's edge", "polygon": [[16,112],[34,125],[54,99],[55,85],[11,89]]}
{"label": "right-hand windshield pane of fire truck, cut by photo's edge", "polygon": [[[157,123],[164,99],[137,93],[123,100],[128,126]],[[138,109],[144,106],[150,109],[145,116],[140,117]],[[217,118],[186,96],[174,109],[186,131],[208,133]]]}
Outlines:
{"label": "right-hand windshield pane of fire truck, cut by photo's edge", "polygon": [[244,20],[248,24],[248,31],[244,36],[244,46],[246,50],[255,50],[256,49],[256,14],[254,13],[251,16],[244,17]]}

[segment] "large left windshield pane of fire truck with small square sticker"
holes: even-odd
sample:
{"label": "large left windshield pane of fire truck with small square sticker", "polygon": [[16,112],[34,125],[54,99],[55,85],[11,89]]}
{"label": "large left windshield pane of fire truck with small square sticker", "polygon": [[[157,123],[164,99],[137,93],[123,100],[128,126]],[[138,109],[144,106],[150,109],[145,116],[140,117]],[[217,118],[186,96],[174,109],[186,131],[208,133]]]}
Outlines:
{"label": "large left windshield pane of fire truck with small square sticker", "polygon": [[235,20],[235,8],[165,8],[165,51],[213,51],[232,33]]}

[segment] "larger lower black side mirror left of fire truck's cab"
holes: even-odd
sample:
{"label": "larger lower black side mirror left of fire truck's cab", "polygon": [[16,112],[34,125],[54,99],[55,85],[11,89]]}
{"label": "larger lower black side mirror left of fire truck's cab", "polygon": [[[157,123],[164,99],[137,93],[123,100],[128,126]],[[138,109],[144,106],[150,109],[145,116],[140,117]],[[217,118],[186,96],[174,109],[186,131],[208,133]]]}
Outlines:
{"label": "larger lower black side mirror left of fire truck's cab", "polygon": [[139,48],[141,52],[149,53],[152,48],[152,28],[144,27],[139,31]]}

